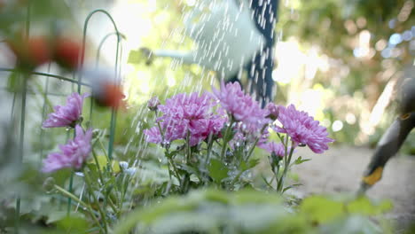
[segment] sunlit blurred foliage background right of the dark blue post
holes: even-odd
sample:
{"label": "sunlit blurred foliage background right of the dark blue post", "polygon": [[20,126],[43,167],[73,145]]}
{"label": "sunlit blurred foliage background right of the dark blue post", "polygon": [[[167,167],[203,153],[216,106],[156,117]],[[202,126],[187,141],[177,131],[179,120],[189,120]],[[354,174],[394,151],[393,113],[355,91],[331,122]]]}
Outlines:
{"label": "sunlit blurred foliage background right of the dark blue post", "polygon": [[[300,77],[281,90],[294,98],[304,92],[326,97],[324,117],[317,118],[339,142],[376,143],[395,118],[397,83],[414,75],[414,2],[287,1],[280,6],[277,31],[283,43],[296,43],[304,58]],[[277,57],[284,65],[284,55],[277,51]],[[405,152],[414,147],[410,136]]]}

